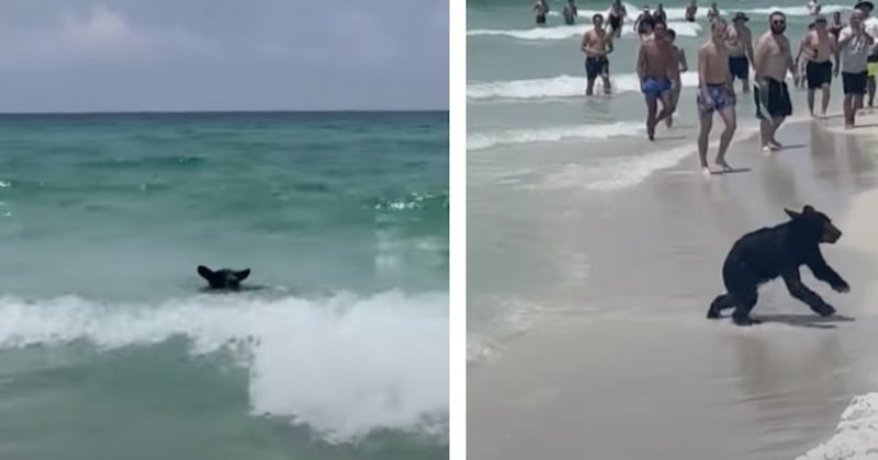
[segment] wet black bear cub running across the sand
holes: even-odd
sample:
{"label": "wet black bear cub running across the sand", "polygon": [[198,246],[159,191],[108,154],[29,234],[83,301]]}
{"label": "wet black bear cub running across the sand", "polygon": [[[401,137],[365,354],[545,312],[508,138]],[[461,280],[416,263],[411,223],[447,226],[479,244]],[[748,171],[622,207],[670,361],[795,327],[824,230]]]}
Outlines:
{"label": "wet black bear cub running across the sand", "polygon": [[826,215],[810,205],[806,205],[801,212],[784,210],[790,217],[789,221],[750,232],[734,243],[722,264],[722,281],[728,294],[710,303],[707,318],[720,318],[722,310],[734,308],[732,320],[735,324],[756,323],[750,318],[750,311],[758,299],[756,290],[759,285],[778,276],[784,278],[792,297],[808,303],[821,317],[835,313],[832,306],[802,284],[799,267],[808,265],[815,278],[838,292],[851,290],[820,253],[820,243],[835,243],[842,231]]}

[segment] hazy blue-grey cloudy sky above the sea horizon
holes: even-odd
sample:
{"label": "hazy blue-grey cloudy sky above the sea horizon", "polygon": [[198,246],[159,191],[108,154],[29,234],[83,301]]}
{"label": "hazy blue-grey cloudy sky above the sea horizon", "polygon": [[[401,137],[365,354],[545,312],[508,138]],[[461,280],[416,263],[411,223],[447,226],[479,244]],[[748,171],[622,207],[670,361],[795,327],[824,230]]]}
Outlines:
{"label": "hazy blue-grey cloudy sky above the sea horizon", "polygon": [[0,112],[448,108],[447,0],[0,0]]}

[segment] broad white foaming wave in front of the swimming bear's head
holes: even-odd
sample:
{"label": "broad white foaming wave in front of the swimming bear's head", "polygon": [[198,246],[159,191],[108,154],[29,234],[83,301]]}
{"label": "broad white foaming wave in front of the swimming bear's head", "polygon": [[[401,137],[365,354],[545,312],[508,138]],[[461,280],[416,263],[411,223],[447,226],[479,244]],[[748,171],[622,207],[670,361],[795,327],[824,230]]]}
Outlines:
{"label": "broad white foaming wave in front of the swimming bear's head", "polygon": [[314,301],[198,296],[160,306],[0,298],[0,347],[85,340],[101,349],[171,336],[191,353],[245,347],[254,415],[290,417],[330,441],[373,429],[447,429],[448,296],[385,292]]}

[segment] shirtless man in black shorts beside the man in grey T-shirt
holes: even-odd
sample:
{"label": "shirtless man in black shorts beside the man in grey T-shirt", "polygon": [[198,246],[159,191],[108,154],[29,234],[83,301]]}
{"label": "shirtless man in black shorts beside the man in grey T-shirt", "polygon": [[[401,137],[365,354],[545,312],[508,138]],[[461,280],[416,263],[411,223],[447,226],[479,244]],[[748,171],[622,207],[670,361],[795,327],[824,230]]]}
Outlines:
{"label": "shirtless man in black shorts beside the man in grey T-shirt", "polygon": [[[832,83],[832,60],[835,55],[835,38],[826,31],[826,18],[814,19],[814,28],[804,37],[804,78],[808,80],[808,110],[814,115],[814,93],[822,91],[822,116],[826,116],[830,106],[830,84]],[[836,60],[835,66],[838,62]]]}

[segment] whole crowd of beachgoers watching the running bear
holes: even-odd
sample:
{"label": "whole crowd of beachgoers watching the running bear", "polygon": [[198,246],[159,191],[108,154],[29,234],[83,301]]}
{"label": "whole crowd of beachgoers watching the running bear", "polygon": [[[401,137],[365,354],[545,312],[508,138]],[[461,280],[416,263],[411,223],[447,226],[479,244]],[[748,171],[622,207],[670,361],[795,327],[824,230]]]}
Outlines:
{"label": "whole crowd of beachgoers watching the running bear", "polygon": [[[537,3],[545,4],[544,0],[538,0]],[[867,99],[868,107],[873,107],[875,102],[878,18],[873,15],[874,8],[871,1],[859,1],[853,5],[846,21],[841,12],[836,12],[830,24],[820,14],[820,4],[812,0],[808,9],[813,15],[813,23],[801,39],[798,53],[793,54],[785,34],[787,18],[783,12],[770,13],[768,30],[754,41],[747,26],[750,18],[745,13],[735,13],[730,24],[720,14],[717,3],[712,3],[706,13],[710,36],[698,48],[697,55],[698,154],[702,171],[711,172],[707,149],[714,114],[719,114],[724,124],[714,163],[722,170],[731,169],[725,161],[725,152],[736,128],[738,94],[734,81],[740,80],[741,91],[750,93],[751,70],[763,151],[770,152],[783,147],[775,135],[784,119],[792,114],[786,82],[788,73],[792,74],[795,87],[807,88],[808,108],[814,117],[818,116],[814,108],[818,90],[821,93],[820,116],[825,117],[832,79],[841,78],[844,125],[847,129],[853,128],[857,112],[864,108],[864,99]],[[548,12],[548,4],[541,11]],[[686,9],[685,19],[695,21],[697,11],[698,7],[693,2]],[[572,12],[570,21],[574,21],[576,9],[573,0],[567,0],[565,18],[569,12]],[[620,0],[615,0],[607,13],[608,25],[605,25],[603,14],[592,18],[593,27],[585,32],[579,46],[586,56],[587,96],[594,94],[598,78],[604,92],[611,92],[608,56],[614,50],[614,39],[621,35],[627,18]],[[675,45],[676,34],[667,27],[666,13],[661,3],[652,11],[644,7],[633,22],[633,30],[640,38],[637,73],[646,103],[646,136],[654,140],[658,124],[665,122],[668,127],[673,124],[682,90],[680,73],[688,70],[688,65],[684,50]]]}

